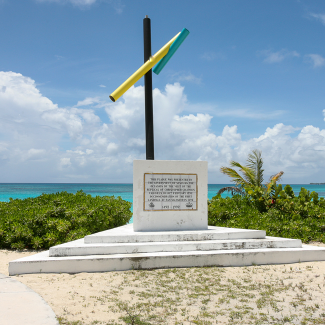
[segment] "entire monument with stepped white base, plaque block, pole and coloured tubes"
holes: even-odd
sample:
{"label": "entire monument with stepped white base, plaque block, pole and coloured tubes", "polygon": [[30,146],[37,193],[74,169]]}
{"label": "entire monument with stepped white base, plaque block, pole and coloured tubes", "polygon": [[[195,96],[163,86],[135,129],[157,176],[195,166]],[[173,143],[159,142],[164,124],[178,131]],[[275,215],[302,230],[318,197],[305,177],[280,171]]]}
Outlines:
{"label": "entire monument with stepped white base, plaque block, pole and coloured tubes", "polygon": [[207,162],[154,160],[151,68],[157,63],[158,74],[188,33],[184,28],[151,55],[146,16],[144,64],[110,94],[117,100],[144,75],[146,160],[133,161],[133,223],[10,261],[10,275],[325,260],[324,247],[299,239],[208,226]]}

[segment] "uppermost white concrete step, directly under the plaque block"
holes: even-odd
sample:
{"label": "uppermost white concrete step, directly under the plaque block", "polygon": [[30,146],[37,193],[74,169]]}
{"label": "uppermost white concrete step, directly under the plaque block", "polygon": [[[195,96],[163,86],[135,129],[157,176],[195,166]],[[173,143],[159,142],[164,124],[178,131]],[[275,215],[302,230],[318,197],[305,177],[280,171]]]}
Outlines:
{"label": "uppermost white concrete step, directly under the plaque block", "polygon": [[206,230],[134,231],[133,224],[93,233],[84,237],[85,243],[160,242],[265,238],[264,230],[208,226]]}

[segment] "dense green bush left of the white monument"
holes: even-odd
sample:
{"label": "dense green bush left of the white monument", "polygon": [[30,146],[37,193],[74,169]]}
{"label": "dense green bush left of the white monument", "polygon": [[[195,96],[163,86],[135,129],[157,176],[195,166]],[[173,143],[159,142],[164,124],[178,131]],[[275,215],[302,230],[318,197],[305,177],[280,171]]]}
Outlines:
{"label": "dense green bush left of the white monument", "polygon": [[87,195],[82,190],[0,202],[0,248],[50,246],[126,224],[131,203],[121,197]]}

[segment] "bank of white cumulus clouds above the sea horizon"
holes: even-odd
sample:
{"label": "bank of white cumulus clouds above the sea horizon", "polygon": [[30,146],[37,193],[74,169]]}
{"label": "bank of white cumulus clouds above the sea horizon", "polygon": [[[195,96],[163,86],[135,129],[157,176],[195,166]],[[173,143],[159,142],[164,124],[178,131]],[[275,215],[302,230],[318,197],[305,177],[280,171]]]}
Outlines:
{"label": "bank of white cumulus clouds above the sea horizon", "polygon": [[[290,182],[302,183],[325,178],[325,129],[278,123],[244,140],[236,125],[212,132],[213,113],[185,114],[190,104],[177,82],[154,89],[153,101],[156,159],[207,160],[209,181],[226,183],[220,166],[230,159],[244,163],[258,148],[266,174],[284,170]],[[58,107],[31,78],[0,72],[1,180],[131,182],[133,159],[145,158],[143,107],[143,86],[114,103],[88,97]]]}

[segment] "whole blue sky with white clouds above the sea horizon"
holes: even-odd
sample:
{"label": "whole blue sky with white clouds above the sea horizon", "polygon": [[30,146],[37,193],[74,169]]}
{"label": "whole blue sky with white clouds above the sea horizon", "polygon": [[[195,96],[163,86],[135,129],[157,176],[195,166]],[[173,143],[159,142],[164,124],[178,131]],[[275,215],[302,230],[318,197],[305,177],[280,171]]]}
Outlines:
{"label": "whole blue sky with white clouds above the sea horizon", "polygon": [[143,78],[153,73],[154,153],[207,160],[208,182],[260,149],[264,178],[325,182],[325,1],[0,0],[0,182],[131,183],[145,159]]}

